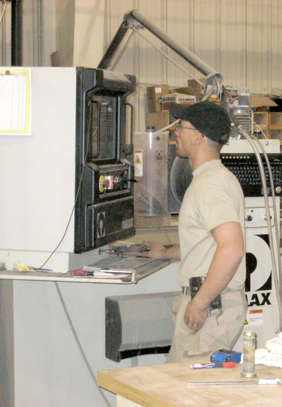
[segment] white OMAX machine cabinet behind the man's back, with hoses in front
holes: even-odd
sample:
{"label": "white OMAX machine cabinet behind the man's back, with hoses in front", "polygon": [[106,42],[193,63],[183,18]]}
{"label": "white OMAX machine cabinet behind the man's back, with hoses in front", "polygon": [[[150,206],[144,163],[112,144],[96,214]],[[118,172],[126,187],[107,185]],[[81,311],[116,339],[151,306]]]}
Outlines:
{"label": "white OMAX machine cabinet behind the man's back, with hoses in front", "polygon": [[[260,140],[260,142],[267,153],[280,153],[279,140]],[[261,152],[260,148],[258,149]],[[253,149],[247,140],[230,140],[229,144],[221,149],[221,153],[235,155],[240,153],[253,153]],[[281,198],[279,196],[275,197],[278,223],[280,217],[280,200]],[[243,332],[234,347],[234,349],[238,351],[242,351],[243,334],[245,331],[254,331],[256,333],[257,348],[265,348],[265,342],[281,332],[278,301],[272,275],[273,269],[264,197],[246,197],[245,201],[247,253],[245,291],[248,311]],[[273,199],[271,196],[269,197],[269,205],[272,222],[271,230],[274,246],[276,248],[277,237],[274,227]],[[250,217],[248,215],[250,215]],[[278,268],[278,261],[281,260],[277,250],[275,250],[275,259]]]}

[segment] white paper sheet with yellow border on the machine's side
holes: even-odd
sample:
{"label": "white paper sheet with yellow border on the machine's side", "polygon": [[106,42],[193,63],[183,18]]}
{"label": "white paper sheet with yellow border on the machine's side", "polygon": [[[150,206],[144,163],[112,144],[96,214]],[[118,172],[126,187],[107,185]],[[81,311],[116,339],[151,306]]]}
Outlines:
{"label": "white paper sheet with yellow border on the machine's side", "polygon": [[31,134],[31,70],[0,69],[0,134]]}

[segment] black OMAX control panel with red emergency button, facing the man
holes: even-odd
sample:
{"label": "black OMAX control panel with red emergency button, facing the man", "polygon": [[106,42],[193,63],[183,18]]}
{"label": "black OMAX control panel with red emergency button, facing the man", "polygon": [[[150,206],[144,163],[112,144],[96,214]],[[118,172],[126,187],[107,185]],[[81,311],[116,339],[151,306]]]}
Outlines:
{"label": "black OMAX control panel with red emergency button, facing the man", "polygon": [[126,144],[126,98],[134,90],[132,75],[76,69],[74,253],[135,233],[132,130]]}

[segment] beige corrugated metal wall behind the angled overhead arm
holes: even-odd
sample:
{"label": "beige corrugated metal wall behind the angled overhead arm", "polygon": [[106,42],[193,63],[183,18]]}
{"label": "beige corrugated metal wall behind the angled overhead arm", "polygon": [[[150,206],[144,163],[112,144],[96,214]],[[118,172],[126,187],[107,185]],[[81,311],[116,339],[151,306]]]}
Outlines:
{"label": "beige corrugated metal wall behind the angled overhead arm", "polygon": [[[220,72],[221,83],[260,94],[282,88],[282,0],[106,0],[105,49],[124,14],[136,8]],[[139,32],[193,76],[203,76],[147,30]],[[186,86],[189,79],[138,34],[115,70],[137,77],[139,86],[131,102],[136,106],[135,130],[140,131],[145,123],[145,87]]]}

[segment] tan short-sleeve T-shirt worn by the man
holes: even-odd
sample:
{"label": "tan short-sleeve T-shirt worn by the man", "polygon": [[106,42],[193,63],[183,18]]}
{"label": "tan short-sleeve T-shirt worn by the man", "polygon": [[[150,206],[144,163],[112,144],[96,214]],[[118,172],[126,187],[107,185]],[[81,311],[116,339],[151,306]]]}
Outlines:
{"label": "tan short-sleeve T-shirt worn by the man", "polygon": [[[245,239],[245,198],[241,185],[220,160],[207,161],[193,172],[179,212],[181,286],[188,286],[191,277],[207,275],[216,249],[211,230],[225,222],[239,222]],[[246,257],[228,288],[243,289],[245,279]]]}

